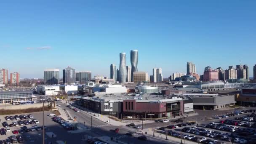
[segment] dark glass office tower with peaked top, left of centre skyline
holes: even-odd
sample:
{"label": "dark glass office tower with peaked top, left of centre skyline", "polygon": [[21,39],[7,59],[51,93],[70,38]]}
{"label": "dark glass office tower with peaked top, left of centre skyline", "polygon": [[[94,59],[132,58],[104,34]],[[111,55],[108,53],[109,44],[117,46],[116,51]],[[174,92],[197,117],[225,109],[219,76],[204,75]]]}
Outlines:
{"label": "dark glass office tower with peaked top, left of centre skyline", "polygon": [[63,69],[63,83],[75,83],[75,69],[72,69],[71,67]]}

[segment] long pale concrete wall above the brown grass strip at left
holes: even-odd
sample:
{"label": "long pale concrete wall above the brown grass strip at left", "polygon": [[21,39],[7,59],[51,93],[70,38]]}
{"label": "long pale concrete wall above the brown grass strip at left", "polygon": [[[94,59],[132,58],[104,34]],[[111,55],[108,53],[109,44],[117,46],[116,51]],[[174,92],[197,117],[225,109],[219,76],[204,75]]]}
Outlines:
{"label": "long pale concrete wall above the brown grass strip at left", "polygon": [[[45,106],[47,106],[48,104],[45,103]],[[0,106],[0,109],[28,109],[28,108],[40,108],[43,107],[43,104],[24,104],[24,105],[2,105]]]}

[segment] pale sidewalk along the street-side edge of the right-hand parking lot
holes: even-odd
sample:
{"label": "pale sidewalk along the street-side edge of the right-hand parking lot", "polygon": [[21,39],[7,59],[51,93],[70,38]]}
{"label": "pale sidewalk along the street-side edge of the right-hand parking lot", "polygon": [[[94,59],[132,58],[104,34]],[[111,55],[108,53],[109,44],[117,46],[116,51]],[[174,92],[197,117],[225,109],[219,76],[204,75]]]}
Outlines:
{"label": "pale sidewalk along the street-side edge of the right-hand parking lot", "polygon": [[[165,139],[166,140],[166,135],[165,134],[162,134],[162,133],[157,133],[155,131],[155,136],[154,133],[153,133],[153,130],[151,128],[148,128],[148,129],[144,129],[144,134],[145,132],[147,132],[147,136],[152,136],[152,137],[155,137],[155,138],[158,138],[158,139]],[[141,133],[141,132],[136,132],[136,133]],[[176,144],[181,144],[181,141],[183,144],[198,144],[197,142],[193,142],[193,141],[188,141],[188,140],[185,140],[185,139],[181,139],[181,138],[177,138],[177,137],[173,137],[173,136],[169,136],[167,135],[167,139],[166,141],[170,141],[170,143],[176,143]]]}

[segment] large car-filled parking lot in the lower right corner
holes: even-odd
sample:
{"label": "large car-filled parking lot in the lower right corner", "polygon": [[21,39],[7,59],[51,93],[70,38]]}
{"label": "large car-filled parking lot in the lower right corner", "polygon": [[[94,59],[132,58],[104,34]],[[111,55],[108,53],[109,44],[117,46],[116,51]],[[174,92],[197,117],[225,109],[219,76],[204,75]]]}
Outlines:
{"label": "large car-filled parking lot in the lower right corner", "polygon": [[189,123],[181,119],[181,123],[161,123],[164,126],[157,128],[156,132],[204,144],[255,144],[255,117],[253,111],[244,110],[199,123]]}

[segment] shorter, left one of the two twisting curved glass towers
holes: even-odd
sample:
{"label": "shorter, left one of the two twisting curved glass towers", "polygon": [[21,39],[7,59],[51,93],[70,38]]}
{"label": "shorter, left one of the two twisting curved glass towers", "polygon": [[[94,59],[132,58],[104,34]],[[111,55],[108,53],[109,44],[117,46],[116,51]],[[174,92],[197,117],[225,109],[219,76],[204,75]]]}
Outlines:
{"label": "shorter, left one of the two twisting curved glass towers", "polygon": [[127,78],[125,53],[120,53],[120,65],[119,65],[119,82],[125,83]]}

